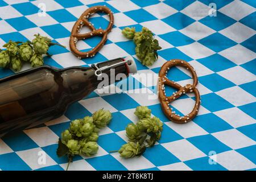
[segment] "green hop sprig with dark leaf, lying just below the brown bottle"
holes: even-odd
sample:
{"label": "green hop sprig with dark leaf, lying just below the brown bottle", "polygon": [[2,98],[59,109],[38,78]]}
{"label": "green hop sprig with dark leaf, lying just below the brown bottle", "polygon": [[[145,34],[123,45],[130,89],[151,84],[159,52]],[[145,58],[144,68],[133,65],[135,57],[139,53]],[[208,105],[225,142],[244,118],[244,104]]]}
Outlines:
{"label": "green hop sprig with dark leaf, lying just below the brown bottle", "polygon": [[61,133],[57,155],[59,157],[67,155],[68,166],[75,155],[95,155],[98,151],[99,127],[108,125],[111,119],[110,111],[104,109],[96,111],[92,117],[75,119],[70,123],[69,128]]}

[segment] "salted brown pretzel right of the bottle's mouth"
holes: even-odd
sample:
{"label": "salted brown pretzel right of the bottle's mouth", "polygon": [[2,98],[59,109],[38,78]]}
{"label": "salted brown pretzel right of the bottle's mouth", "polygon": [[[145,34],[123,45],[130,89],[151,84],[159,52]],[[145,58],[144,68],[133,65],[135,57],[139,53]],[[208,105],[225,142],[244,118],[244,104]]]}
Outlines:
{"label": "salted brown pretzel right of the bottle's mouth", "polygon": [[[187,68],[192,73],[193,85],[187,84],[185,86],[181,86],[181,85],[177,84],[176,82],[169,80],[166,77],[168,70],[171,67],[174,67],[176,65]],[[188,64],[186,61],[180,60],[180,59],[173,59],[173,60],[167,61],[166,63],[163,64],[162,68],[159,71],[158,90],[159,90],[159,101],[162,106],[162,110],[168,119],[170,119],[171,121],[176,122],[176,123],[187,123],[187,122],[191,121],[193,118],[195,118],[195,116],[198,113],[199,106],[201,103],[200,94],[196,88],[197,82],[198,82],[198,80],[197,80],[195,69],[193,69],[193,67],[190,64]],[[172,88],[178,89],[178,91],[174,92],[172,94],[172,96],[166,96],[165,87],[164,87],[165,85],[168,85],[168,86],[171,86]],[[185,93],[192,93],[192,92],[195,93],[196,104],[195,104],[193,110],[191,111],[191,113],[189,113],[188,115],[184,115],[184,116],[175,114],[175,111],[172,111],[172,108],[170,107],[170,102],[176,100],[177,98],[179,98],[181,95],[183,95]]]}

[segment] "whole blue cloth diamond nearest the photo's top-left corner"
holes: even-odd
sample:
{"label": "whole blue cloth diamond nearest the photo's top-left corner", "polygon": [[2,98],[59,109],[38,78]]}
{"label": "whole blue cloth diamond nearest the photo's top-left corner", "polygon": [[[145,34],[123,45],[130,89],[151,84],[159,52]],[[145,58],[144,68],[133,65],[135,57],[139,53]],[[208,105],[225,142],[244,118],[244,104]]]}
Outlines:
{"label": "whole blue cloth diamond nearest the photo's top-left corner", "polygon": [[25,15],[32,15],[38,13],[39,7],[33,5],[31,2],[16,3],[13,6],[19,13]]}

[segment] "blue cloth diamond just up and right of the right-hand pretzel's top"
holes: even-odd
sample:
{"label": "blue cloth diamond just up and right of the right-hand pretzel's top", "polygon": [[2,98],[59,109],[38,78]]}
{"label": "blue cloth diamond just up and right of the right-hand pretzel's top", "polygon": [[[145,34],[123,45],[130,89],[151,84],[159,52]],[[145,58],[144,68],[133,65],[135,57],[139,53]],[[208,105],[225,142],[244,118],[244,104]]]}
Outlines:
{"label": "blue cloth diamond just up and right of the right-hand pretzel's top", "polygon": [[234,64],[232,61],[226,59],[218,53],[215,53],[209,57],[197,59],[197,61],[214,72],[220,72],[236,66],[236,64]]}

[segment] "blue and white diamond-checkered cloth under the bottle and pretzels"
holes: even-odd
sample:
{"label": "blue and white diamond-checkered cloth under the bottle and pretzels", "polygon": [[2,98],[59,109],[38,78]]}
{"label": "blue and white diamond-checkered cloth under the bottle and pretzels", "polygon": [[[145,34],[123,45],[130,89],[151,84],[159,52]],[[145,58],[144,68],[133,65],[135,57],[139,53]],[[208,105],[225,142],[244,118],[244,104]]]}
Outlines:
{"label": "blue and white diamond-checkered cloth under the bottle and pretzels", "polygon": [[[113,11],[114,27],[95,57],[79,60],[69,51],[69,35],[82,12],[95,5],[106,5]],[[216,6],[216,16],[209,16],[209,6]],[[0,0],[0,48],[10,39],[31,40],[39,32],[67,46],[51,47],[49,53],[53,56],[46,57],[46,64],[59,68],[86,67],[128,55],[136,59],[133,41],[124,38],[121,30],[132,26],[140,31],[145,26],[154,32],[162,49],[151,67],[136,60],[138,72],[157,77],[167,60],[189,61],[199,77],[202,100],[197,117],[177,125],[164,116],[158,100],[147,100],[145,94],[131,94],[127,90],[105,95],[93,92],[72,104],[60,118],[1,138],[0,169],[64,170],[67,158],[56,155],[61,131],[67,129],[72,119],[104,107],[113,113],[113,121],[100,132],[98,154],[90,158],[76,156],[69,170],[255,170],[255,7],[255,0]],[[108,15],[95,14],[90,21],[95,27],[104,28]],[[90,49],[99,41],[97,37],[80,41],[78,47]],[[28,68],[25,65],[23,70]],[[11,74],[14,73],[9,69],[0,69],[0,77]],[[182,68],[172,68],[168,76],[181,85],[192,80]],[[137,76],[129,79],[139,81]],[[155,92],[156,82],[147,85],[142,80],[138,85],[131,89]],[[172,107],[178,114],[187,114],[194,100],[186,94]],[[126,160],[118,153],[109,154],[126,143],[125,126],[137,121],[133,112],[138,105],[148,106],[164,122],[162,138],[139,158]]]}

